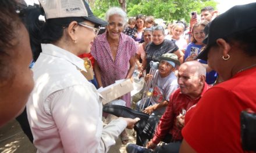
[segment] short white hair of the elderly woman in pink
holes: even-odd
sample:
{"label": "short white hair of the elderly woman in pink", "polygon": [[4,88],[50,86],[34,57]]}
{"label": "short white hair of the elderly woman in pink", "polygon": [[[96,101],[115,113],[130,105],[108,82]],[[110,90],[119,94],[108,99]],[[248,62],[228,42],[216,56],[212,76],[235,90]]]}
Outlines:
{"label": "short white hair of the elderly woman in pink", "polygon": [[109,18],[114,14],[118,14],[123,18],[123,25],[127,23],[127,15],[125,11],[123,11],[121,8],[118,8],[118,7],[112,7],[112,8],[109,8],[108,11],[106,11],[106,15],[105,15],[106,21],[109,21]]}

